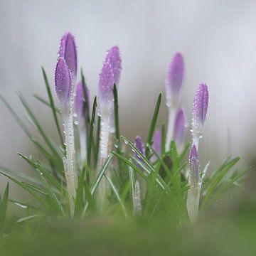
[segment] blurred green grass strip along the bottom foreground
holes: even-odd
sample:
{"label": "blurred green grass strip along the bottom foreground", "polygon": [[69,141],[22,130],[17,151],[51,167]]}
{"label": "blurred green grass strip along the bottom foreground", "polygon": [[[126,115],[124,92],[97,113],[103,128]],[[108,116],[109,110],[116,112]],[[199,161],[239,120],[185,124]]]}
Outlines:
{"label": "blurred green grass strip along the bottom foreground", "polygon": [[256,201],[236,198],[228,196],[183,228],[168,218],[30,220],[28,227],[36,230],[27,227],[1,240],[1,255],[256,255]]}

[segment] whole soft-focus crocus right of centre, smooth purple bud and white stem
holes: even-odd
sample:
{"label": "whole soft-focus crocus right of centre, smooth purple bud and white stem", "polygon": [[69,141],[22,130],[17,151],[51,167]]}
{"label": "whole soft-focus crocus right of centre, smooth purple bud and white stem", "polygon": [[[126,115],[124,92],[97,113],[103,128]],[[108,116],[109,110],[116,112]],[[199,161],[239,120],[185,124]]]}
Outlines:
{"label": "whole soft-focus crocus right of centre, smooth purple bud and white stem", "polygon": [[173,139],[174,136],[174,119],[176,117],[176,110],[179,104],[183,76],[183,56],[181,53],[176,53],[169,64],[166,74],[166,106],[169,109],[166,151],[169,151],[171,139]]}

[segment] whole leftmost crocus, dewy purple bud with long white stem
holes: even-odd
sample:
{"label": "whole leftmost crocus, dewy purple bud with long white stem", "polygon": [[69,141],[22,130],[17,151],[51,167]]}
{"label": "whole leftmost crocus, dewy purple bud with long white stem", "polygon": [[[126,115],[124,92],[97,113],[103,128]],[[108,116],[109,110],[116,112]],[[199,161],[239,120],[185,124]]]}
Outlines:
{"label": "whole leftmost crocus, dewy purple bud with long white stem", "polygon": [[59,58],[55,69],[55,92],[58,98],[65,133],[66,156],[63,158],[67,181],[70,210],[73,213],[77,174],[75,174],[75,146],[73,129],[73,85],[70,70],[63,58]]}

